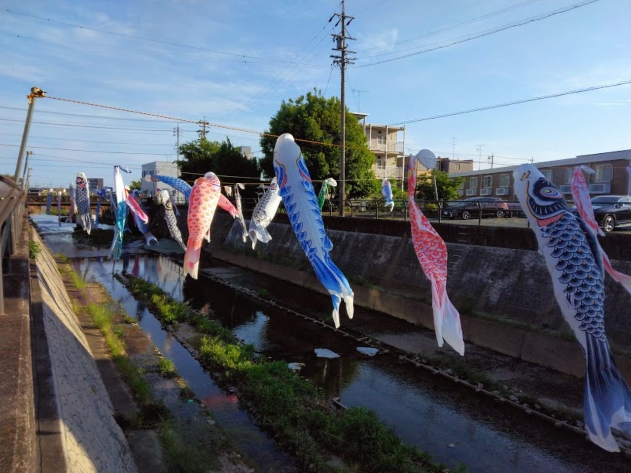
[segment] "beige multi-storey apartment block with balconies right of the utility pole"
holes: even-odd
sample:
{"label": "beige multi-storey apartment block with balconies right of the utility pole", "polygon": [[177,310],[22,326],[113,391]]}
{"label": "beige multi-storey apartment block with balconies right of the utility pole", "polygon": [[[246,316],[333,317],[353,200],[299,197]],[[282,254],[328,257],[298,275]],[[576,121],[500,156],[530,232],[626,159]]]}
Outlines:
{"label": "beige multi-storey apartment block with balconies right of the utility pole", "polygon": [[363,128],[370,152],[375,155],[372,170],[375,177],[403,180],[405,127],[366,123],[368,114],[353,112]]}

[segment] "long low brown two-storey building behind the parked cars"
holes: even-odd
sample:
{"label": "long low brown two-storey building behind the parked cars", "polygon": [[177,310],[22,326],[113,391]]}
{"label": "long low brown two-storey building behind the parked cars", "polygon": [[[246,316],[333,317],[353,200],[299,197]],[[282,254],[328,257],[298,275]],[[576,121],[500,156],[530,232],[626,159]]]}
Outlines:
{"label": "long low brown two-storey building behind the parked cars", "polygon": [[[614,194],[627,196],[631,193],[631,177],[627,166],[631,165],[631,149],[611,151],[594,155],[582,155],[575,158],[555,161],[543,161],[534,165],[571,199],[572,171],[575,166],[585,165],[595,173],[586,176],[589,194]],[[517,200],[514,193],[512,172],[517,166],[506,166],[495,169],[482,169],[467,172],[450,172],[450,177],[463,176],[464,183],[460,195],[466,197],[493,196],[506,200]]]}

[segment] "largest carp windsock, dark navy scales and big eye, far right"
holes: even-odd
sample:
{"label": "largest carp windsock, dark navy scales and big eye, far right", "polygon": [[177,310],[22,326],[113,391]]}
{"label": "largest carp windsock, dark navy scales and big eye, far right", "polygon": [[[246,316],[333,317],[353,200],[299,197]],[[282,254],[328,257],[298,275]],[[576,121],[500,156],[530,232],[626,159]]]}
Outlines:
{"label": "largest carp windsock, dark navy scales and big eye, far right", "polygon": [[631,391],[611,356],[604,331],[604,267],[596,233],[568,209],[563,194],[535,166],[518,166],[513,177],[563,318],[585,355],[587,433],[604,450],[619,452],[611,428],[631,434]]}

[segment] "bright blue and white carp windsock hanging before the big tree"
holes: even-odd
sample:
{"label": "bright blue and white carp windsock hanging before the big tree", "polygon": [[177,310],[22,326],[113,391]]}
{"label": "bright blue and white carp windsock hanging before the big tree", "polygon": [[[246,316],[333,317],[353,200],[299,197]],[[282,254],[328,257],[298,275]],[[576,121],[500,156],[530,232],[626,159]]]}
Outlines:
{"label": "bright blue and white carp windsock hanging before the big tree", "polygon": [[281,134],[276,140],[274,172],[276,182],[278,182],[278,194],[283,199],[298,243],[309,258],[315,276],[331,295],[333,322],[338,328],[340,301],[344,299],[348,318],[353,318],[355,295],[344,274],[331,260],[329,252],[333,250],[333,243],[324,230],[324,222],[309,170],[302,157],[300,146],[293,141],[293,136],[289,133]]}

